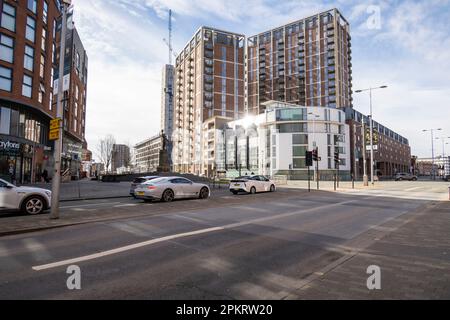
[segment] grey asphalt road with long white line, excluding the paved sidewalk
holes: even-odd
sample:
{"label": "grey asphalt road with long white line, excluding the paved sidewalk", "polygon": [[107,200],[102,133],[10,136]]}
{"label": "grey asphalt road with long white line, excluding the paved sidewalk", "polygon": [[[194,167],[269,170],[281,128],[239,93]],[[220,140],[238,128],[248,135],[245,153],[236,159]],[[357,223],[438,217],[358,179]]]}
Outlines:
{"label": "grey asphalt road with long white line, excluding the paved sidewalk", "polygon": [[[323,270],[376,241],[374,230],[428,205],[295,189],[171,204],[67,203],[62,214],[148,215],[0,238],[0,299],[301,297]],[[81,290],[66,286],[70,265],[81,269]]]}

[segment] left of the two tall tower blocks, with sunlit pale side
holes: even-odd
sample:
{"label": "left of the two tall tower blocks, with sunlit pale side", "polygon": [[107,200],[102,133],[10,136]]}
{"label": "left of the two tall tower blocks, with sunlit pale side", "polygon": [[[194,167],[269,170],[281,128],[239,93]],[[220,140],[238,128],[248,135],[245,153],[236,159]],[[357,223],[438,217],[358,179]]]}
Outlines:
{"label": "left of the two tall tower blocks, with sunlit pale side", "polygon": [[245,115],[244,45],[243,35],[202,27],[178,55],[172,135],[175,171],[200,174],[206,119]]}

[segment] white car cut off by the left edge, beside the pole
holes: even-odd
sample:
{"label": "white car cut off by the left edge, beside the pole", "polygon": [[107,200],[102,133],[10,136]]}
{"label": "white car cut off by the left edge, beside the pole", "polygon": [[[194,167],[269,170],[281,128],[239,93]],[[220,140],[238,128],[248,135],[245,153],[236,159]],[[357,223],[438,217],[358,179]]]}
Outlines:
{"label": "white car cut off by the left edge, beside the pole", "polygon": [[50,190],[32,187],[16,187],[0,179],[0,210],[20,210],[28,214],[39,214],[50,209]]}

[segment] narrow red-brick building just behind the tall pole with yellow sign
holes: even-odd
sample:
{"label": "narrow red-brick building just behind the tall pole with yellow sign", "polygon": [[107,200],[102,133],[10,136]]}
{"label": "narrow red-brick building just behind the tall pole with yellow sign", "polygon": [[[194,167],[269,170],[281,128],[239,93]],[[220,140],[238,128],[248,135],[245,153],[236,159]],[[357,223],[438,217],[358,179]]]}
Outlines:
{"label": "narrow red-brick building just behind the tall pole with yellow sign", "polygon": [[[56,61],[59,61],[59,36]],[[55,68],[55,84],[58,87],[59,68]],[[76,175],[81,167],[86,128],[86,96],[88,77],[88,57],[77,29],[68,29],[64,57],[64,136],[63,171]],[[57,91],[55,90],[55,93]],[[57,95],[53,99],[56,108]]]}

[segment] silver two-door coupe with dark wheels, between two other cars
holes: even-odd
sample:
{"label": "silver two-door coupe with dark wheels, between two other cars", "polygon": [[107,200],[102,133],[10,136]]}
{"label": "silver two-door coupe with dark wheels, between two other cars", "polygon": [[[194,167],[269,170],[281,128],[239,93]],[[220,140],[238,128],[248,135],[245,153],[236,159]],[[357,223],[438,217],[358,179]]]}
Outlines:
{"label": "silver two-door coupe with dark wheels, between two other cars", "polygon": [[211,191],[206,184],[196,183],[183,177],[163,177],[148,180],[136,187],[136,198],[171,202],[175,199],[207,199]]}

